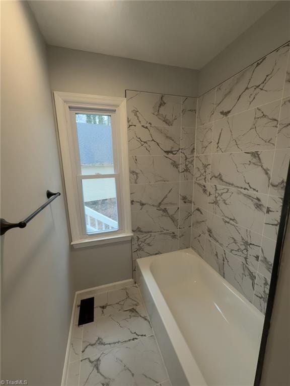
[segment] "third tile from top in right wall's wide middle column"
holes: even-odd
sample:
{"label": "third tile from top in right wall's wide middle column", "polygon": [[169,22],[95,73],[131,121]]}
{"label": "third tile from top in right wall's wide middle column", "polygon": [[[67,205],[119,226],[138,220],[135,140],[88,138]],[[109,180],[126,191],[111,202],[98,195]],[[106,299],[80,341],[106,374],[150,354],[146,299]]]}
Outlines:
{"label": "third tile from top in right wall's wide middle column", "polygon": [[274,151],[213,154],[211,183],[268,194]]}

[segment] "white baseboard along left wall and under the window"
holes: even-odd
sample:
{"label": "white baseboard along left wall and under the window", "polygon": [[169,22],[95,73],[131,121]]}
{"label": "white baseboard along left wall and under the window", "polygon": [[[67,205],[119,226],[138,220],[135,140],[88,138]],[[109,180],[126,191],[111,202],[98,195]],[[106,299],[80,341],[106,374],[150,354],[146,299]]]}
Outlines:
{"label": "white baseboard along left wall and under the window", "polygon": [[73,334],[75,311],[76,311],[78,300],[88,295],[101,294],[103,292],[113,291],[114,289],[123,288],[132,284],[134,284],[134,280],[127,279],[127,280],[116,281],[110,284],[99,285],[98,287],[82,289],[81,291],[77,291],[75,293],[73,310],[71,311],[70,326],[69,326],[68,339],[67,339],[67,345],[66,345],[66,351],[65,351],[63,371],[62,371],[62,377],[61,377],[61,386],[65,386],[65,383],[66,383],[66,375],[67,375],[67,367],[68,367],[69,351],[70,351],[70,340],[71,340],[71,334]]}

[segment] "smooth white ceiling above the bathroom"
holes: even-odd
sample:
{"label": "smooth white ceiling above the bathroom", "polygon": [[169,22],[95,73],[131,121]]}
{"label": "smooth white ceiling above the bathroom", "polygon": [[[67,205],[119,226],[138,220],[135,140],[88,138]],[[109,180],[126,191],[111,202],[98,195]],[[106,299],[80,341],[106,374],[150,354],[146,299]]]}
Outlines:
{"label": "smooth white ceiling above the bathroom", "polygon": [[48,44],[200,69],[275,1],[30,1]]}

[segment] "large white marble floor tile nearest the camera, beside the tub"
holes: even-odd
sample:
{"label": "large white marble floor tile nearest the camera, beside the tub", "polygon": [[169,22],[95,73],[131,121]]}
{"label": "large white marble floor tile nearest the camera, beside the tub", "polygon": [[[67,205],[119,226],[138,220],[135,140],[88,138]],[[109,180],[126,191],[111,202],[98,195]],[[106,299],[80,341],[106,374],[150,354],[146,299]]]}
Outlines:
{"label": "large white marble floor tile nearest the camera, beside the tub", "polygon": [[80,386],[150,386],[167,379],[153,336],[81,361]]}

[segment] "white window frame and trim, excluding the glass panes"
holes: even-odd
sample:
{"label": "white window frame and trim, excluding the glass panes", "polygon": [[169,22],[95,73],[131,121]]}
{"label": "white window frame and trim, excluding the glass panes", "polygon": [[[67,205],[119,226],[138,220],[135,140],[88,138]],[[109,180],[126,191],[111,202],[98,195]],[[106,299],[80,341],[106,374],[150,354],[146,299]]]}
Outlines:
{"label": "white window frame and trim, excluding the glass panes", "polygon": [[[115,241],[129,240],[132,236],[129,192],[128,142],[126,125],[126,99],[108,96],[75,94],[55,91],[53,93],[60,155],[63,168],[66,202],[71,232],[71,245],[75,248],[92,246]],[[73,109],[74,111],[71,111]],[[82,179],[96,176],[81,175],[78,136],[76,123],[72,115],[78,113],[92,114],[96,110],[115,110],[112,114],[113,156],[116,174],[103,177],[114,177],[117,190],[118,225],[117,231],[100,234],[86,234],[84,218],[84,201]]]}

